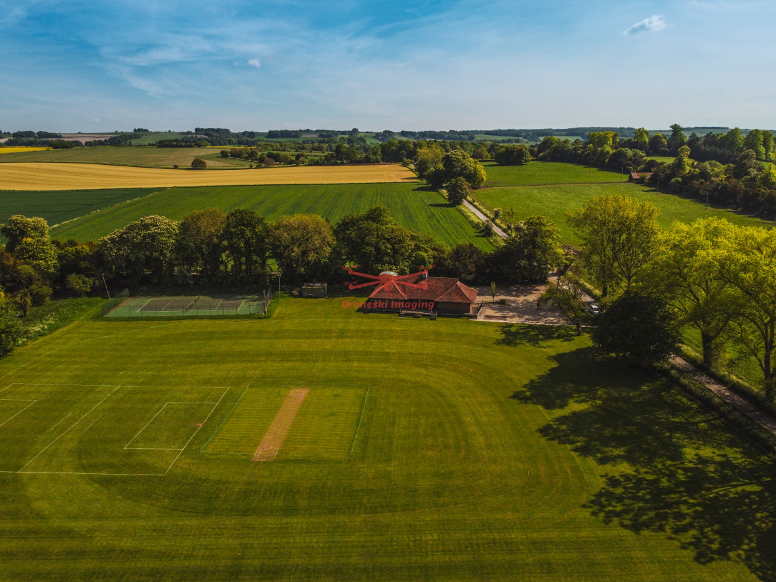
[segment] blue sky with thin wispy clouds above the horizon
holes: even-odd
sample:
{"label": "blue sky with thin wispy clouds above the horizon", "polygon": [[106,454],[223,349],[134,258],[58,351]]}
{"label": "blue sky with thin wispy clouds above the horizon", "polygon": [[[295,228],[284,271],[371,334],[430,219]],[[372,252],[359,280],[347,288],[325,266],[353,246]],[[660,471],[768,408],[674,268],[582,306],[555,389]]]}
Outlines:
{"label": "blue sky with thin wispy clouds above the horizon", "polygon": [[772,0],[0,0],[0,129],[773,129],[774,25]]}

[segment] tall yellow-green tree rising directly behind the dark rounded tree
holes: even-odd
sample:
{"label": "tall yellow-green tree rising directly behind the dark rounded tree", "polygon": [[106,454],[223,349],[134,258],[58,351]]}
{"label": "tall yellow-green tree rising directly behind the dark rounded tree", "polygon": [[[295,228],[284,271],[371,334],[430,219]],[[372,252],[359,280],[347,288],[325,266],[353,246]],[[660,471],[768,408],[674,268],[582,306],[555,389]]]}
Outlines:
{"label": "tall yellow-green tree rising directly behind the dark rounded tree", "polygon": [[660,231],[658,213],[652,203],[606,194],[568,214],[568,222],[583,241],[584,265],[603,296],[617,287],[629,289],[639,269],[652,258]]}

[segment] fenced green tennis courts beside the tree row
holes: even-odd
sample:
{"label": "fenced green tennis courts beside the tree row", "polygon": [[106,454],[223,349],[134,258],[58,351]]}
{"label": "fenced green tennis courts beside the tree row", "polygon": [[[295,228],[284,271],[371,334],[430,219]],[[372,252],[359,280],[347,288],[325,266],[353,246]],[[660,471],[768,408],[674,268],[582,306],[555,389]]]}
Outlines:
{"label": "fenced green tennis courts beside the tree row", "polygon": [[120,297],[102,307],[102,317],[213,317],[266,313],[265,295]]}

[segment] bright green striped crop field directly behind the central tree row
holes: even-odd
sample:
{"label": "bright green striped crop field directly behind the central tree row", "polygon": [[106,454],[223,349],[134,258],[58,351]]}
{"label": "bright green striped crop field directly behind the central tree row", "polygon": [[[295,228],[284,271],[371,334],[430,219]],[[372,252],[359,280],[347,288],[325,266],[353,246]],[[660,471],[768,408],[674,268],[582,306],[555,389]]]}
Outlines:
{"label": "bright green striped crop field directly behind the central tree row", "polygon": [[473,242],[483,250],[493,248],[438,192],[417,184],[398,183],[171,188],[72,220],[54,228],[51,236],[96,241],[150,214],[179,220],[192,210],[211,207],[225,211],[250,208],[271,220],[283,214],[320,214],[336,222],[345,214],[363,212],[378,204],[386,206],[403,226],[451,246]]}

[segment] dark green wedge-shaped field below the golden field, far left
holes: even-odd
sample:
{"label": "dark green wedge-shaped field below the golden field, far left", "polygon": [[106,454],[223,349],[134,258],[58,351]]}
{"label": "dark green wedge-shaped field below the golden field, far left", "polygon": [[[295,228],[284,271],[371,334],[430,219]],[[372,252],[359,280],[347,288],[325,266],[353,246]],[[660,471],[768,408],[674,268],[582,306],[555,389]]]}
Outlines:
{"label": "dark green wedge-shaped field below the golden field, far left", "polygon": [[146,196],[156,189],[68,190],[66,192],[0,192],[0,222],[14,214],[45,218],[50,225],[84,217],[95,210]]}

